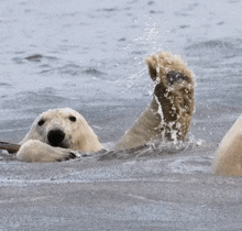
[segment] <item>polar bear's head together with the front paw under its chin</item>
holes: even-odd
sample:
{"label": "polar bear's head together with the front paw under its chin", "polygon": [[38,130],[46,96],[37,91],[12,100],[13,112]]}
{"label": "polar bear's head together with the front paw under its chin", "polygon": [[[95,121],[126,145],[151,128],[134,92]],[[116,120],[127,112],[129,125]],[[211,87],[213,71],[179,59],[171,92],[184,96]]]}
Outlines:
{"label": "polar bear's head together with the front paw under its chin", "polygon": [[20,142],[16,158],[25,162],[54,162],[74,158],[78,152],[97,152],[102,145],[84,117],[70,108],[40,114]]}

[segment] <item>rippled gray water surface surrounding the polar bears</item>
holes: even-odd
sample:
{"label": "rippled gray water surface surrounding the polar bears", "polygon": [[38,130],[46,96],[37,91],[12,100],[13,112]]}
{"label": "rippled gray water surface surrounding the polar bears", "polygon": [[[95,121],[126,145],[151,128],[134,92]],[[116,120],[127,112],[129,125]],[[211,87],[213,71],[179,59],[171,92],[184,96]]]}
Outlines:
{"label": "rippled gray water surface surrounding the polar bears", "polygon": [[79,111],[110,146],[152,98],[144,58],[180,55],[196,75],[189,141],[63,163],[0,153],[0,230],[242,230],[240,177],[211,173],[242,112],[242,2],[0,2],[0,140],[52,108]]}

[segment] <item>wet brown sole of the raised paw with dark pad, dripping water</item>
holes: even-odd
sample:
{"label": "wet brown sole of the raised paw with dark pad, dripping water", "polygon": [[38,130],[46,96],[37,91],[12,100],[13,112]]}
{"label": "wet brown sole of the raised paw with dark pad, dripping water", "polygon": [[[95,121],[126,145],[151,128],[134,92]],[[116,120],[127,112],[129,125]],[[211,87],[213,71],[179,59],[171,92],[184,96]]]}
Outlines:
{"label": "wet brown sole of the raised paw with dark pad, dripping water", "polygon": [[[165,136],[167,140],[184,140],[195,108],[194,74],[179,56],[168,52],[147,57],[146,64],[155,82],[154,106],[162,109]],[[156,108],[153,107],[153,111]]]}

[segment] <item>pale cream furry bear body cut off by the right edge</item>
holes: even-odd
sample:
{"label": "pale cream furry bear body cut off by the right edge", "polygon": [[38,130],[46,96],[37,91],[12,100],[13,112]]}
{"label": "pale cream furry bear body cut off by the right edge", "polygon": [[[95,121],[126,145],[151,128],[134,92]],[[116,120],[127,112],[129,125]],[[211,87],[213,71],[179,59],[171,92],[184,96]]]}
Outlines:
{"label": "pale cream furry bear body cut off by the right edge", "polygon": [[220,142],[213,170],[217,175],[242,176],[242,114]]}

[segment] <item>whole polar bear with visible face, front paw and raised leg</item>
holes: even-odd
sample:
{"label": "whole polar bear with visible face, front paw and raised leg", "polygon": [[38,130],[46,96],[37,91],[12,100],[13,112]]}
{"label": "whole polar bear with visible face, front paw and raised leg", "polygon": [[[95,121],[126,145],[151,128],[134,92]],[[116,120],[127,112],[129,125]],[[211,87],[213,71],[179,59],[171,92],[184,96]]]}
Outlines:
{"label": "whole polar bear with visible face, front paw and raised leg", "polygon": [[[147,57],[146,64],[154,81],[153,99],[113,150],[135,148],[153,139],[183,141],[189,131],[195,108],[193,72],[168,52]],[[20,144],[16,158],[24,162],[55,162],[103,148],[84,117],[67,108],[42,113]]]}

